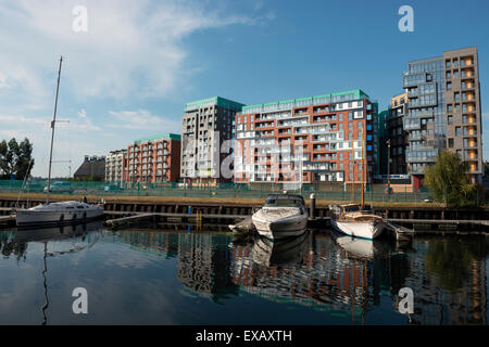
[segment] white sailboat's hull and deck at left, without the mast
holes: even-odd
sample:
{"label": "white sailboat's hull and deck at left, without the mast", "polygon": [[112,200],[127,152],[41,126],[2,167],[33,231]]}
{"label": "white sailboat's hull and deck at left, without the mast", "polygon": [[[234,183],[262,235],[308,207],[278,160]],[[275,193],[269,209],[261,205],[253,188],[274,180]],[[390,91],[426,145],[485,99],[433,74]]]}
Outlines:
{"label": "white sailboat's hull and deck at left, without the mast", "polygon": [[17,209],[17,227],[57,226],[87,222],[100,218],[103,208],[78,202],[61,202]]}

